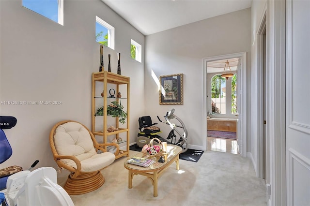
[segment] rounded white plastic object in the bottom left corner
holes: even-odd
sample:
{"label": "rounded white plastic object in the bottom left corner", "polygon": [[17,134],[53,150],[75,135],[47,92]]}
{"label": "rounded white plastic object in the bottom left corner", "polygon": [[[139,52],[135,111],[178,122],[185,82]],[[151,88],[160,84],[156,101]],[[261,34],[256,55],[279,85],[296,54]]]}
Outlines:
{"label": "rounded white plastic object in the bottom left corner", "polygon": [[8,206],[74,206],[69,194],[57,184],[52,167],[21,171],[8,177],[5,199]]}

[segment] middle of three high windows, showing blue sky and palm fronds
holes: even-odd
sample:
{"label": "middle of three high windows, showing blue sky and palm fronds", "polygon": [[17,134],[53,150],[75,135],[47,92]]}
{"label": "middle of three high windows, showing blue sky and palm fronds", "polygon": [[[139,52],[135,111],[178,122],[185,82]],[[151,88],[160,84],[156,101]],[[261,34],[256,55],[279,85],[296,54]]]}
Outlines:
{"label": "middle of three high windows, showing blue sky and palm fronds", "polygon": [[96,42],[114,49],[114,27],[96,16]]}

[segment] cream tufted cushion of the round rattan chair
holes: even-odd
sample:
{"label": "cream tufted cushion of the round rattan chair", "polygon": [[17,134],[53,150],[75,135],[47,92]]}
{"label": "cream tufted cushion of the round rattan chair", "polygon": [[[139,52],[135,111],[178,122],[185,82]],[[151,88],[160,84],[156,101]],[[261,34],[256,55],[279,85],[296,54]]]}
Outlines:
{"label": "cream tufted cushion of the round rattan chair", "polygon": [[[54,143],[59,155],[75,156],[81,162],[82,172],[100,170],[115,160],[110,152],[97,154],[88,130],[77,122],[67,122],[57,127]],[[77,168],[74,161],[62,159],[63,163]]]}

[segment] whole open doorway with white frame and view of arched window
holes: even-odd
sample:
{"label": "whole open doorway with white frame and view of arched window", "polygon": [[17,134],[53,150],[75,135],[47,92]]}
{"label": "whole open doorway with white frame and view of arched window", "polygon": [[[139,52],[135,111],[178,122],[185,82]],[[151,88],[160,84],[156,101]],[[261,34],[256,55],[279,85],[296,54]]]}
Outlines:
{"label": "whole open doorway with white frame and view of arched window", "polygon": [[207,138],[203,141],[207,150],[246,157],[246,108],[241,107],[246,107],[245,68],[246,53],[204,59],[203,110]]}

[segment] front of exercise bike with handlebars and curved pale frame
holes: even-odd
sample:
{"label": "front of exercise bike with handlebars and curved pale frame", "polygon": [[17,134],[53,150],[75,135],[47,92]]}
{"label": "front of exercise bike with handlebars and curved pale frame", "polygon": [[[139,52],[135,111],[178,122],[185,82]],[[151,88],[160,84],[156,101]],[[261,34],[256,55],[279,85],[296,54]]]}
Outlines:
{"label": "front of exercise bike with handlebars and curved pale frame", "polygon": [[[160,122],[168,124],[171,127],[171,131],[169,132],[167,139],[171,139],[171,144],[182,147],[183,149],[182,153],[184,153],[188,149],[187,130],[183,121],[176,115],[174,115],[174,111],[175,111],[174,109],[171,109],[169,112],[167,112],[165,116],[166,122],[163,122],[158,116],[157,118]],[[171,119],[176,119],[181,125],[176,125],[175,123],[172,123]],[[180,132],[177,128],[182,128],[183,132]],[[178,135],[180,135],[180,138],[177,142],[176,142],[177,135],[175,134],[175,132]]]}

